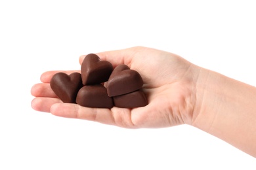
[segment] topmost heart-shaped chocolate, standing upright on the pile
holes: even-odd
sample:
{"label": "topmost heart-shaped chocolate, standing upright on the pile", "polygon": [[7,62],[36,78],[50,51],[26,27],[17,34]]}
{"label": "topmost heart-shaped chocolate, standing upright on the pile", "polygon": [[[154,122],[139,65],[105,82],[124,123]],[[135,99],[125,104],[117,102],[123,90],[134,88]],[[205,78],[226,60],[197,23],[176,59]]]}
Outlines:
{"label": "topmost heart-shaped chocolate, standing upright on the pile", "polygon": [[101,61],[96,54],[88,54],[81,64],[83,85],[106,82],[112,71],[112,63]]}

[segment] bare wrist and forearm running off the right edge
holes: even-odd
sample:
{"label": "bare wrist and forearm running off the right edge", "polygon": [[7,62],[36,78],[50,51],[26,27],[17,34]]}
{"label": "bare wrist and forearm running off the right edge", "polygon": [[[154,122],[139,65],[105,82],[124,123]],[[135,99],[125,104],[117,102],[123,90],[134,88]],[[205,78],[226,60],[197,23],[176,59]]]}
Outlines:
{"label": "bare wrist and forearm running off the right edge", "polygon": [[256,156],[256,88],[201,69],[191,125]]}

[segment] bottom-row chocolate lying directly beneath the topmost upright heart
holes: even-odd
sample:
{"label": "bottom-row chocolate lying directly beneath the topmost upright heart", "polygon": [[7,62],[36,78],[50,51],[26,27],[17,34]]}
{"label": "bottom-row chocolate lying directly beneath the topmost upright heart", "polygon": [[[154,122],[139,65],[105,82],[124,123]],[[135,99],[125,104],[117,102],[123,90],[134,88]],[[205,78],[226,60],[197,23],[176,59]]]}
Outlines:
{"label": "bottom-row chocolate lying directly beneath the topmost upright heart", "polygon": [[83,86],[77,93],[76,103],[83,107],[112,108],[113,99],[102,84]]}

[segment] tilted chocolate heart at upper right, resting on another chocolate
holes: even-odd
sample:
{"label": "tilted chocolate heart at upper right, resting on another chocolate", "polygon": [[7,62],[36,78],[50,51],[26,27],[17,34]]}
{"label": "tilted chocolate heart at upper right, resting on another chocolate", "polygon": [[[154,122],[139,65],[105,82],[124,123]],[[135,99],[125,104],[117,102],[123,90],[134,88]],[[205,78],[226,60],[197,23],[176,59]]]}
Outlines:
{"label": "tilted chocolate heart at upper right, resting on another chocolate", "polygon": [[139,90],[143,85],[140,74],[127,65],[117,65],[108,79],[108,96],[123,95]]}

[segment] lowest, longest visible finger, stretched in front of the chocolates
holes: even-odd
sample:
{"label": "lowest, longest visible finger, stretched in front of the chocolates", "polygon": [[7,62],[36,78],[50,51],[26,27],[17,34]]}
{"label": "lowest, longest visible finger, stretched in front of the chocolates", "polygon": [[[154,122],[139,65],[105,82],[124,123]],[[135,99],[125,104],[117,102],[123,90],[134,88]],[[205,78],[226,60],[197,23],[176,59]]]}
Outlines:
{"label": "lowest, longest visible finger, stretched in front of the chocolates", "polygon": [[78,118],[119,127],[135,128],[131,122],[131,110],[113,107],[99,109],[81,107],[70,103],[58,103],[51,107],[51,113],[65,118]]}

